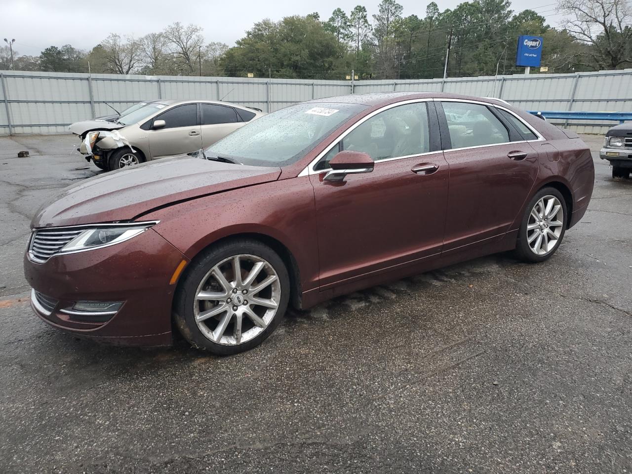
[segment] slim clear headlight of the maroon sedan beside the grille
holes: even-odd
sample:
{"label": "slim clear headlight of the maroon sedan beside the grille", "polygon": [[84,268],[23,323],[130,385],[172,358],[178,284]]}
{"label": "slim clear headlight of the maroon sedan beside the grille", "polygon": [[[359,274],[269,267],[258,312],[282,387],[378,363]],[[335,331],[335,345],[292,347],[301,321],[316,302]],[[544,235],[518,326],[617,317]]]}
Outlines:
{"label": "slim clear headlight of the maroon sedan beside the grille", "polygon": [[94,226],[94,228],[85,229],[78,234],[73,240],[64,245],[59,253],[77,252],[78,250],[107,247],[125,242],[138,234],[142,234],[157,223],[158,221],[130,222],[129,224]]}

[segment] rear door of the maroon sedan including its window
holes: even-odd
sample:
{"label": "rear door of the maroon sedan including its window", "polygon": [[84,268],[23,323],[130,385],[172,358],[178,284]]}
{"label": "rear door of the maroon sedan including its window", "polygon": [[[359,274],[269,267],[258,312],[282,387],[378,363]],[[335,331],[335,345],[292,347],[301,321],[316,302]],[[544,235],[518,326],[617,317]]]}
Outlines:
{"label": "rear door of the maroon sedan including its window", "polygon": [[444,252],[501,238],[532,189],[538,154],[493,106],[435,104],[450,167]]}

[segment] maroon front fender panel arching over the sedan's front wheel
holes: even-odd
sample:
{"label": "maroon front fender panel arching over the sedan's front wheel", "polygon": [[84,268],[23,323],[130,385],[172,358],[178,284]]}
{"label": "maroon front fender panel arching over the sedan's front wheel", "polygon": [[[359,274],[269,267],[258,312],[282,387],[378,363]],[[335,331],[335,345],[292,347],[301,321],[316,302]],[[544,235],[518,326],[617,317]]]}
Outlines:
{"label": "maroon front fender panel arching over the sedan's front wheel", "polygon": [[224,191],[155,210],[143,220],[187,258],[218,240],[260,234],[281,243],[298,264],[303,291],[319,278],[313,187],[308,176]]}

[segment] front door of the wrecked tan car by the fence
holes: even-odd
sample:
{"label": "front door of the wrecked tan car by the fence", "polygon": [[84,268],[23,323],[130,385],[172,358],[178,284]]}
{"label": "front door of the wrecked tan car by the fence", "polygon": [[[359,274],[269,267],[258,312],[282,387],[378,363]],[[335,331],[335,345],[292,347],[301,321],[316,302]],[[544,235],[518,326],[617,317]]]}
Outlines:
{"label": "front door of the wrecked tan car by the fence", "polygon": [[155,116],[153,121],[156,120],[164,120],[165,126],[150,128],[147,132],[153,159],[190,153],[202,148],[197,103],[172,107]]}

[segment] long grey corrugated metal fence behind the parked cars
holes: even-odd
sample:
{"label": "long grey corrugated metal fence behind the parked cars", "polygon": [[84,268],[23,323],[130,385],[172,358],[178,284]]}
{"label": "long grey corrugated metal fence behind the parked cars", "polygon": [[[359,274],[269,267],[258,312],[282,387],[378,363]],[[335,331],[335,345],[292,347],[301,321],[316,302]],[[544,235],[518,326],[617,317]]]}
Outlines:
{"label": "long grey corrugated metal fence behind the parked cars", "polygon": [[[223,99],[272,112],[303,100],[351,92],[417,91],[498,97],[527,110],[632,110],[632,70],[362,80],[353,85],[348,80],[0,72],[6,90],[4,97],[0,87],[0,135],[64,133],[74,121],[111,114],[108,104],[120,111],[139,100],[154,99]],[[569,121],[568,125],[580,132],[604,133],[613,123]]]}

